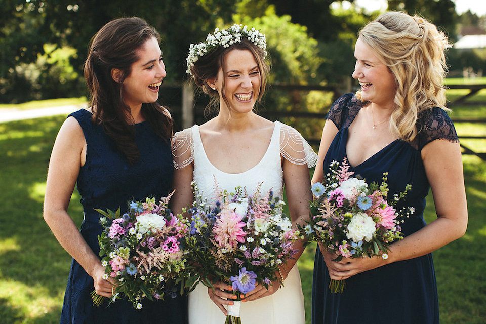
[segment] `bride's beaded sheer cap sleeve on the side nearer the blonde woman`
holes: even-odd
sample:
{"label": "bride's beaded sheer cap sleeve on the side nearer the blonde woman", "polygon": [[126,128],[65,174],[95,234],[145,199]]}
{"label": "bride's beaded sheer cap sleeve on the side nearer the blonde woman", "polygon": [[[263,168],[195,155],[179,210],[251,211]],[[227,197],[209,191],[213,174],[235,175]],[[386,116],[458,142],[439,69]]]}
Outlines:
{"label": "bride's beaded sheer cap sleeve on the side nearer the blonde woman", "polygon": [[294,128],[282,124],[280,129],[280,154],[296,165],[307,164],[312,168],[317,164],[317,154]]}

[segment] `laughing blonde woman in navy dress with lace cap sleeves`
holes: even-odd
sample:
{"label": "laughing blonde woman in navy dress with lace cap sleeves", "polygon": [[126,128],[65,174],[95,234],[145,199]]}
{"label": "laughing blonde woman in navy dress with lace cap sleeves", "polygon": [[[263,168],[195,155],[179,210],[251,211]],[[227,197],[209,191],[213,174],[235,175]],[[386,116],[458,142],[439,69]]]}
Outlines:
{"label": "laughing blonde woman in navy dress with lace cap sleeves", "polygon": [[[345,258],[320,247],[312,287],[312,323],[438,323],[431,252],[461,237],[467,226],[459,140],[448,117],[442,81],[443,33],[421,17],[388,12],[360,32],[355,45],[356,94],[339,98],[322,131],[312,181],[325,178],[333,160],[371,182],[388,172],[388,197],[412,185],[396,207],[413,207],[402,224],[404,239],[387,260]],[[437,219],[426,224],[425,197],[432,189]],[[342,294],[331,279],[346,279]]]}

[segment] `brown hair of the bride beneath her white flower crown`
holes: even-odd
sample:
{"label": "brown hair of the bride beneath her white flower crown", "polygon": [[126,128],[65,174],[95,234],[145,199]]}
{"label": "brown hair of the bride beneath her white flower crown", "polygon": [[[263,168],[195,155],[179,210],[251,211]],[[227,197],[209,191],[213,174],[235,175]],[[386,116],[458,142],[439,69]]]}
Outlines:
{"label": "brown hair of the bride beneath her white flower crown", "polygon": [[[216,90],[211,89],[211,87],[206,82],[208,79],[216,78],[218,75],[218,71],[220,68],[224,66],[224,60],[226,58],[226,54],[232,50],[248,50],[252,53],[255,61],[257,62],[258,68],[260,70],[261,75],[261,82],[260,82],[260,90],[258,92],[257,102],[260,102],[261,98],[265,93],[265,89],[267,87],[267,78],[268,73],[270,71],[270,66],[265,61],[266,53],[263,49],[256,46],[252,42],[248,41],[247,39],[241,39],[241,42],[236,42],[230,45],[229,47],[219,46],[216,49],[206,53],[204,56],[199,57],[199,59],[194,63],[191,67],[191,74],[194,83],[199,86],[199,88],[206,94],[208,94],[211,98],[209,103],[209,107],[214,107],[218,109],[219,103],[219,95]],[[224,74],[223,74],[224,75]],[[222,97],[223,100],[226,102],[226,105],[229,106],[228,99],[224,95],[224,86],[225,80],[223,77],[222,80],[223,89]]]}

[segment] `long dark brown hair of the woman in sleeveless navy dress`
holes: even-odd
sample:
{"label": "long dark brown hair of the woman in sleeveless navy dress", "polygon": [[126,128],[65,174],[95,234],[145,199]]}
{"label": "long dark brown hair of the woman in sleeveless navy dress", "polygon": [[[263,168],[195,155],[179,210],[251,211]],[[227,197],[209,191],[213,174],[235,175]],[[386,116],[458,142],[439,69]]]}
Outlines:
{"label": "long dark brown hair of the woman in sleeveless navy dress", "polygon": [[[121,85],[130,75],[132,64],[138,60],[137,50],[151,38],[160,41],[157,31],[143,19],[114,19],[93,36],[84,64],[93,122],[103,124],[106,134],[132,164],[140,158],[140,153],[134,140],[135,128],[132,120],[127,118],[130,108],[121,96]],[[121,70],[118,82],[111,77],[113,68]],[[141,113],[158,136],[170,139],[172,119],[164,108],[156,102],[144,103]]]}

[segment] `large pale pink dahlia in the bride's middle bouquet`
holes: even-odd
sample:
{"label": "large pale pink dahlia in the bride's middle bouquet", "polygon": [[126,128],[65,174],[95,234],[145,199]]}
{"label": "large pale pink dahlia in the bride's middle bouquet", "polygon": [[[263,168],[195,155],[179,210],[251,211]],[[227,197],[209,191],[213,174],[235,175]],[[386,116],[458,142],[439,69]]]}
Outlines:
{"label": "large pale pink dahlia in the bride's middle bouquet", "polygon": [[243,216],[230,212],[222,213],[221,217],[216,220],[213,228],[214,238],[221,247],[234,249],[237,242],[245,242],[244,236],[247,233],[241,228],[245,227],[246,223],[241,222],[242,219]]}

